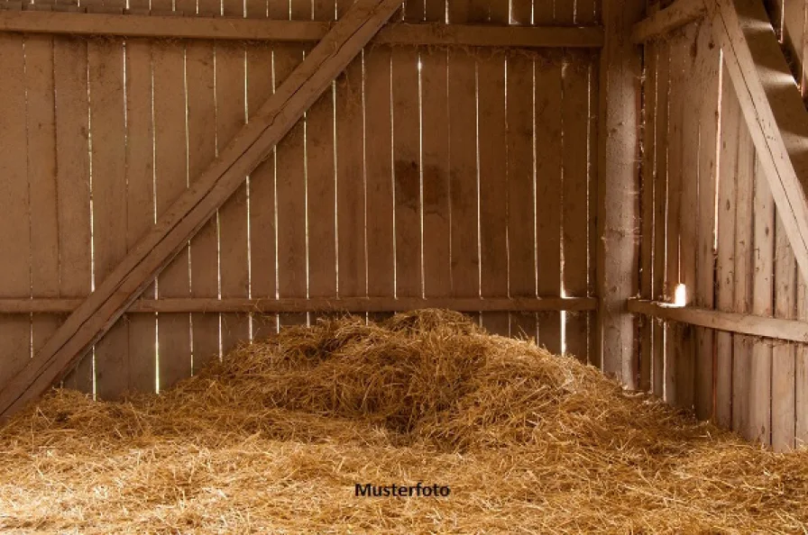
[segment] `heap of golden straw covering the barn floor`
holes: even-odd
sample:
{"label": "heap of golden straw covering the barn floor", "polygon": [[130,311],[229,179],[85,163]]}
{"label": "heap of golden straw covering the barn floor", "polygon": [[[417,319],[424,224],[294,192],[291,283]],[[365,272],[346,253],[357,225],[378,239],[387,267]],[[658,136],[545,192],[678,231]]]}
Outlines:
{"label": "heap of golden straw covering the barn floor", "polygon": [[[451,495],[354,495],[418,482]],[[159,396],[54,391],[0,431],[5,532],[806,526],[808,453],[746,445],[437,311],[289,329]]]}

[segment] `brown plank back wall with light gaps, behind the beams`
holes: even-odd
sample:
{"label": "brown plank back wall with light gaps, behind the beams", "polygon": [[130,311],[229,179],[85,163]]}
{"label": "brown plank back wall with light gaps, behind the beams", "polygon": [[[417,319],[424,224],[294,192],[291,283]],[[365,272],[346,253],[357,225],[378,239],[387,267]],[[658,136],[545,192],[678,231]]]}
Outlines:
{"label": "brown plank back wall with light gaps, behind the beams", "polygon": [[[350,3],[81,0],[321,21]],[[596,23],[598,9],[414,0],[396,16],[569,25]],[[0,34],[0,298],[88,295],[309,46]],[[145,296],[592,296],[597,59],[370,46]],[[0,316],[0,382],[64,317]],[[160,390],[238,343],[317,317],[128,313],[65,384],[102,398]],[[597,363],[590,313],[480,321]]]}

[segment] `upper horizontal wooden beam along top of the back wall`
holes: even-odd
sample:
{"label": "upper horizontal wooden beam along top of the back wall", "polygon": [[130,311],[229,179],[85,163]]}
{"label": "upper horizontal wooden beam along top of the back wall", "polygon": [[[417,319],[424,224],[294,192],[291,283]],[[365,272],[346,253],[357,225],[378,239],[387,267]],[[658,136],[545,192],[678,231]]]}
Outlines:
{"label": "upper horizontal wooden beam along top of the back wall", "polygon": [[[317,42],[333,23],[160,14],[0,11],[0,32],[170,39]],[[389,45],[599,48],[600,26],[490,26],[394,23],[372,40]]]}

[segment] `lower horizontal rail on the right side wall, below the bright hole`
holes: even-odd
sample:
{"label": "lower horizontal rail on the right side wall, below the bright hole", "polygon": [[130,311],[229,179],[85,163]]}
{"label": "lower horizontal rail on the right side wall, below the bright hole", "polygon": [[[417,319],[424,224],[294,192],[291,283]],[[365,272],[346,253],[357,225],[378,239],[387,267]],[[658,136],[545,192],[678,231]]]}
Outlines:
{"label": "lower horizontal rail on the right side wall, below the bright hole", "polygon": [[808,343],[808,322],[780,320],[752,314],[725,313],[692,306],[678,307],[641,299],[629,299],[629,312],[716,331]]}

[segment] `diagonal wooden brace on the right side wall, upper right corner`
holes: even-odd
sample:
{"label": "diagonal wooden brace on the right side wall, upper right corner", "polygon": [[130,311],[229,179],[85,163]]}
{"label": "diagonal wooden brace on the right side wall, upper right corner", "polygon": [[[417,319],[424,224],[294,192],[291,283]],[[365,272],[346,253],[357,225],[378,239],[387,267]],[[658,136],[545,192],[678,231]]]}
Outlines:
{"label": "diagonal wooden brace on the right side wall, upper right corner", "polygon": [[800,273],[808,280],[808,112],[761,0],[703,0]]}

